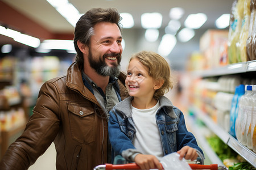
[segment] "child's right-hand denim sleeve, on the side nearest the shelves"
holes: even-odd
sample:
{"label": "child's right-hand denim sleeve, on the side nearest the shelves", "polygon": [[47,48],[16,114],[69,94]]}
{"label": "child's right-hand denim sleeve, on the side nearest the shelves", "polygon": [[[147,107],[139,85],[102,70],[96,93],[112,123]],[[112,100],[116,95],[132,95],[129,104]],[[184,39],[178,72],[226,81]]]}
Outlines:
{"label": "child's right-hand denim sleeve, on the side nearest the shelves", "polygon": [[203,150],[197,145],[195,136],[189,132],[185,125],[185,119],[182,112],[180,112],[180,121],[177,124],[176,138],[177,138],[177,151],[179,151],[184,146],[189,146],[195,148],[197,154],[204,159]]}

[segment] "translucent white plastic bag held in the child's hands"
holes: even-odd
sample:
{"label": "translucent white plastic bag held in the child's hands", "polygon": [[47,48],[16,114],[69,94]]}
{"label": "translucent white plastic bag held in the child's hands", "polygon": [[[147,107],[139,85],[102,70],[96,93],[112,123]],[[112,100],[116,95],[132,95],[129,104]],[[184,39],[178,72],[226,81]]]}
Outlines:
{"label": "translucent white plastic bag held in the child's hands", "polygon": [[160,159],[160,163],[164,170],[191,170],[187,161],[184,158],[180,160],[179,157],[180,155],[177,152],[173,152],[172,154],[163,156]]}

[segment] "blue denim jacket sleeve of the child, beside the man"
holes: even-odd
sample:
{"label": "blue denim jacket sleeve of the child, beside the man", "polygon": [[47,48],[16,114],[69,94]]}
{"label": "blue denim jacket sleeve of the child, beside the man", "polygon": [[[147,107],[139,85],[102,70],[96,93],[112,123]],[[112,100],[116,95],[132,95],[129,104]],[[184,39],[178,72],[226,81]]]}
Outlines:
{"label": "blue denim jacket sleeve of the child, beside the man", "polygon": [[[119,126],[118,118],[122,117],[118,117],[118,113],[114,113],[113,110],[110,111],[109,114],[109,139],[112,148],[115,151],[115,155],[122,155],[122,151],[127,149],[135,149],[131,140]],[[124,122],[122,123],[122,126],[125,126]]]}

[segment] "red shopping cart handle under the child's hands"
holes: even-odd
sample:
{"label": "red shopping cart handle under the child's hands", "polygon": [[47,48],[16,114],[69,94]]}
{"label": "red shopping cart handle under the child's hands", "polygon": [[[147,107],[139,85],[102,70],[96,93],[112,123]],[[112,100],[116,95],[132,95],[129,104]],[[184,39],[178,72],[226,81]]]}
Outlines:
{"label": "red shopping cart handle under the child's hands", "polygon": [[[210,164],[210,165],[201,165],[201,164],[188,164],[191,169],[210,169],[210,170],[228,170],[223,165],[218,164]],[[93,170],[112,170],[112,169],[141,169],[137,164],[135,163],[129,163],[129,164],[105,164],[105,165],[98,165],[97,167],[94,167]]]}

